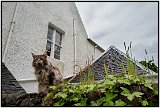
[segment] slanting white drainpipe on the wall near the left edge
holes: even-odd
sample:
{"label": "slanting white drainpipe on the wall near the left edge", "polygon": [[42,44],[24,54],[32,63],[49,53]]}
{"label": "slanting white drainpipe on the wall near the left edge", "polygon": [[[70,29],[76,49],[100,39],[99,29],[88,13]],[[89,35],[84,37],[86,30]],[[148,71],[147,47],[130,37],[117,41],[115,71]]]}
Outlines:
{"label": "slanting white drainpipe on the wall near the left edge", "polygon": [[9,46],[9,42],[10,42],[10,39],[11,39],[11,36],[12,36],[12,33],[13,33],[13,29],[14,29],[14,26],[15,26],[15,16],[17,14],[17,10],[18,10],[18,2],[16,2],[16,7],[15,7],[15,10],[14,10],[14,13],[13,13],[13,17],[12,17],[11,26],[10,26],[9,33],[8,33],[8,39],[7,39],[7,43],[5,45],[3,58],[2,58],[3,62],[5,61],[6,52],[7,52],[7,49],[8,49],[8,46]]}

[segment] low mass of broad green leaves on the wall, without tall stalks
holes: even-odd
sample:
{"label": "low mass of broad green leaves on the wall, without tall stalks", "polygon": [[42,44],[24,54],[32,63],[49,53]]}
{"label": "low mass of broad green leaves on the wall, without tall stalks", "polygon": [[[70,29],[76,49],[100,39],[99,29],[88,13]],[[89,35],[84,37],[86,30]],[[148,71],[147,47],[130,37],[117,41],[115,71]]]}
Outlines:
{"label": "low mass of broad green leaves on the wall, without tall stalks", "polygon": [[[140,87],[138,91],[134,90]],[[145,87],[145,88],[144,88]],[[46,99],[53,101],[53,106],[127,106],[128,101],[123,100],[119,95],[125,96],[129,101],[137,98],[137,105],[151,106],[152,98],[158,97],[158,89],[152,83],[139,79],[133,75],[126,75],[118,78],[109,76],[107,79],[93,84],[64,84],[63,88],[50,86],[51,92],[46,95]],[[150,95],[146,95],[147,91]],[[95,97],[94,97],[95,96]],[[95,99],[95,100],[93,100]]]}

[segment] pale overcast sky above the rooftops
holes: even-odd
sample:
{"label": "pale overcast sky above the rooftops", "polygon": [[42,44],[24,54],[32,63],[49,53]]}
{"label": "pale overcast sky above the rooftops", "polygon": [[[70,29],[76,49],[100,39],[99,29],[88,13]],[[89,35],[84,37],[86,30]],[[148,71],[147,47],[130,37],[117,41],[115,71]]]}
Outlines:
{"label": "pale overcast sky above the rooftops", "polygon": [[152,56],[158,64],[158,3],[76,2],[89,38],[105,50],[113,45],[125,52],[132,41],[136,60]]}

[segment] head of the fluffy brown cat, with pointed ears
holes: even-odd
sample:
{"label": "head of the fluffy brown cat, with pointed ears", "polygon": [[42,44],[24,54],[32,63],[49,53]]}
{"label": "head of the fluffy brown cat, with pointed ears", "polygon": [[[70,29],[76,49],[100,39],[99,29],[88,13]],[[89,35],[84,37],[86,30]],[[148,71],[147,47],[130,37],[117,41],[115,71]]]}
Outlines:
{"label": "head of the fluffy brown cat, with pointed ears", "polygon": [[45,65],[47,65],[47,52],[45,52],[42,55],[35,55],[34,53],[31,53],[33,57],[32,66],[35,68],[42,68]]}

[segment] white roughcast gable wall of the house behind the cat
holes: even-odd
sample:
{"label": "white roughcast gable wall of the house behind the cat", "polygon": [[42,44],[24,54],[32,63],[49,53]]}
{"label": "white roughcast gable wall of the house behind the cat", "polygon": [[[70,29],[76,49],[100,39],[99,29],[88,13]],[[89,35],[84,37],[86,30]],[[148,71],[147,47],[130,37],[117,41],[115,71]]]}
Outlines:
{"label": "white roughcast gable wall of the house behind the cat", "polygon": [[[9,39],[13,16],[15,21]],[[37,92],[31,53],[42,54],[46,50],[49,23],[64,32],[61,60],[50,59],[60,68],[64,77],[73,75],[73,19],[76,63],[83,68],[88,58],[92,60],[94,46],[87,40],[87,32],[74,2],[2,2],[2,57],[5,57],[3,62],[26,92]],[[94,57],[102,54],[98,48],[95,48],[95,52]],[[76,71],[79,71],[79,68]]]}

